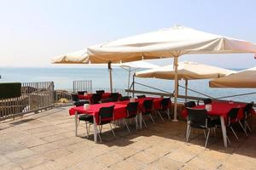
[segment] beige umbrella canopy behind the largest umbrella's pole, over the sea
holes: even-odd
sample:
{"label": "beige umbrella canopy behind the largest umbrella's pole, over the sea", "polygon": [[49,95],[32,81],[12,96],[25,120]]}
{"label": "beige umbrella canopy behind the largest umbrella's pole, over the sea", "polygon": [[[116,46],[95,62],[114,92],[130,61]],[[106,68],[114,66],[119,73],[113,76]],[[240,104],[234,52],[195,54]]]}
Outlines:
{"label": "beige umbrella canopy behind the largest umbrella's pole, over the sea", "polygon": [[[178,79],[209,79],[224,77],[225,75],[234,73],[236,71],[230,71],[223,68],[218,68],[211,65],[203,65],[195,62],[180,62],[177,66]],[[175,71],[172,65],[166,65],[156,69],[150,69],[147,71],[139,71],[135,74],[136,77],[155,77],[161,79],[174,79]]]}

